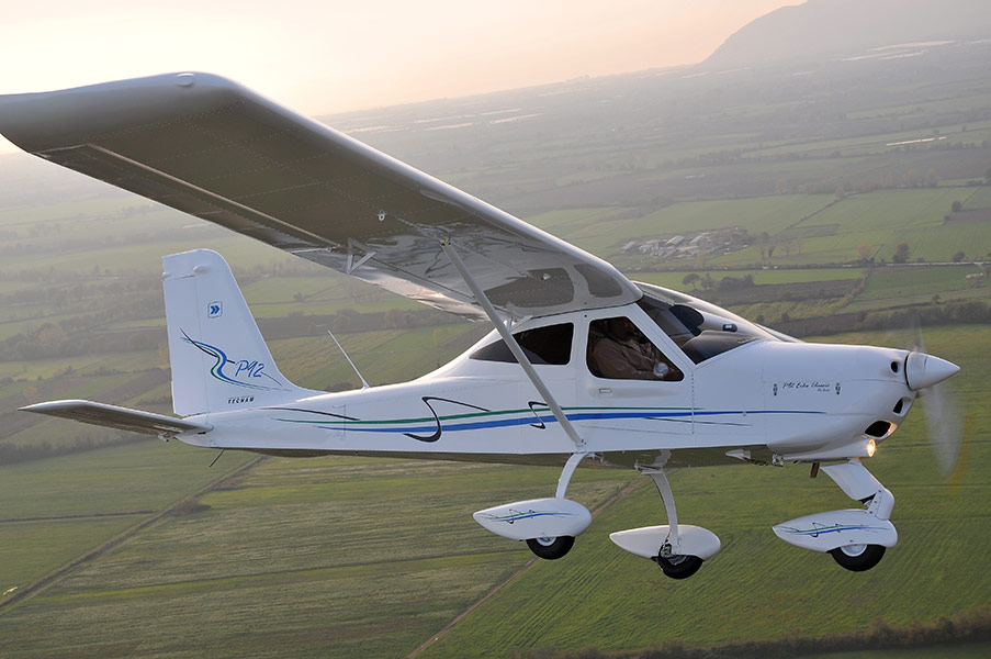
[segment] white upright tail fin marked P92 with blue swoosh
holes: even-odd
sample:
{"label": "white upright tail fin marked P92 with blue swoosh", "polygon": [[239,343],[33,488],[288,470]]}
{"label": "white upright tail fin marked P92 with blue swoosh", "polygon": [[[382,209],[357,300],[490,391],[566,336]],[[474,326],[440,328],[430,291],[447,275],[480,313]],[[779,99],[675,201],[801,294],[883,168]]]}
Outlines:
{"label": "white upright tail fin marked P92 with blue swoosh", "polygon": [[319,393],[279,372],[219,254],[195,249],[161,261],[176,414],[277,405]]}

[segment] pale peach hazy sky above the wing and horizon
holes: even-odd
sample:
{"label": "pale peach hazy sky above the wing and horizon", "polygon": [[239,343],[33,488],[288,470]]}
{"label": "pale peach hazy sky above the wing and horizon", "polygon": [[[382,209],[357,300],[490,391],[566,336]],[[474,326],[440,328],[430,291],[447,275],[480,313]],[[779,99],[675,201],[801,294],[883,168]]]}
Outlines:
{"label": "pale peach hazy sky above the wing and horizon", "polygon": [[800,0],[8,2],[0,93],[178,70],[308,114],[679,64]]}

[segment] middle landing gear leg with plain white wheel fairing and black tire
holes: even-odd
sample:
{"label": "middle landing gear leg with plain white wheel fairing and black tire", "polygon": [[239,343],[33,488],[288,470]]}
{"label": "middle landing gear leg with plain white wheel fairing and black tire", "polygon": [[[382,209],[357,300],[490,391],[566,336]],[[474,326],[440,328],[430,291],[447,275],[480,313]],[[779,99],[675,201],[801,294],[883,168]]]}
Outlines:
{"label": "middle landing gear leg with plain white wheel fairing and black tire", "polygon": [[609,538],[620,548],[656,562],[666,577],[687,579],[698,572],[702,561],[716,556],[720,549],[719,538],[700,526],[679,525],[667,476],[660,469],[644,470],[644,473],[657,485],[668,523],[619,530],[610,534]]}

